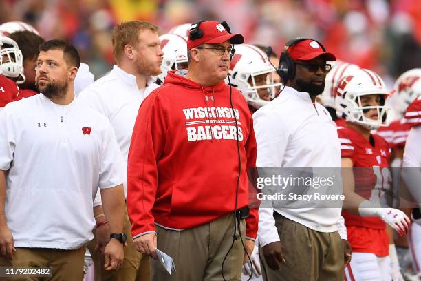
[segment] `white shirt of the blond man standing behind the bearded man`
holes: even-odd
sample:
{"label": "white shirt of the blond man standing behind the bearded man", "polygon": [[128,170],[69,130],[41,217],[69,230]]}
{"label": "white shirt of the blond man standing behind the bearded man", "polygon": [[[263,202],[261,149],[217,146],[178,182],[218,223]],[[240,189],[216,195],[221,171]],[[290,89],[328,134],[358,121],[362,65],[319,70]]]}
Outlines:
{"label": "white shirt of the blond man standing behind the bearded man", "polygon": [[114,127],[116,138],[124,158],[124,186],[127,193],[127,157],[134,123],[140,104],[159,85],[148,79],[147,87],[138,89],[136,77],[117,65],[104,77],[83,90],[78,99],[107,116]]}

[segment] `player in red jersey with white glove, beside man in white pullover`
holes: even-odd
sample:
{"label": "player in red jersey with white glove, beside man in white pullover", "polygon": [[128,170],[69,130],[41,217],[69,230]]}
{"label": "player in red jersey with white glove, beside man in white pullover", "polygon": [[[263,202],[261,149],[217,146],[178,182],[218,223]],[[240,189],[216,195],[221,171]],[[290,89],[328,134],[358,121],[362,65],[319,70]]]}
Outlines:
{"label": "player in red jersey with white glove, beside man in white pullover", "polygon": [[404,236],[409,218],[398,209],[382,207],[391,183],[391,151],[385,139],[371,134],[372,129],[387,125],[388,93],[380,76],[364,69],[344,76],[336,87],[336,109],[347,121],[338,126],[338,136],[342,166],[347,167],[343,169],[347,208],[343,217],[353,251],[345,269],[348,280],[403,280],[386,225]]}

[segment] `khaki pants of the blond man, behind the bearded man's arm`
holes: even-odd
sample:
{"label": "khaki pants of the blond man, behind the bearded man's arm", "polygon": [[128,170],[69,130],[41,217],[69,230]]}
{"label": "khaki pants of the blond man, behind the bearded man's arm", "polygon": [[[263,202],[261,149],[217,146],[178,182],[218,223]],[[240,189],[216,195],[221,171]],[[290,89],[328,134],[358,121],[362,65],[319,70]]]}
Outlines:
{"label": "khaki pants of the blond man, behind the bearded man's arm", "polygon": [[127,215],[127,208],[125,208],[125,219],[123,232],[127,235],[127,247],[124,248],[125,259],[122,266],[116,270],[104,269],[104,256],[101,253],[94,251],[96,246],[96,239],[91,240],[87,244],[89,252],[91,252],[92,260],[95,268],[95,281],[110,280],[110,281],[149,281],[149,258],[143,256],[142,253],[136,250],[131,236],[131,224],[129,216]]}

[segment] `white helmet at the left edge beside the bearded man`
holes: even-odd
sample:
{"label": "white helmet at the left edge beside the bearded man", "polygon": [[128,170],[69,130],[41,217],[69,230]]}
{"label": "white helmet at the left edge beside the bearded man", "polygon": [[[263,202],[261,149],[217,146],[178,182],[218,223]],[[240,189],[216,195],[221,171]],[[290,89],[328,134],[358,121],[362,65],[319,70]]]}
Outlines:
{"label": "white helmet at the left edge beside the bearded man", "polygon": [[18,84],[25,82],[22,52],[17,43],[9,37],[0,37],[0,74],[17,78]]}

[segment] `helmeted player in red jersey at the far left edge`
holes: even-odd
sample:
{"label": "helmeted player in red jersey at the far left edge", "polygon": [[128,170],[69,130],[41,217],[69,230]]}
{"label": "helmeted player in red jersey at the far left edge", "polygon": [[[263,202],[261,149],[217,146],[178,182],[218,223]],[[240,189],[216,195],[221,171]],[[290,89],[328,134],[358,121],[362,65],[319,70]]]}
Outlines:
{"label": "helmeted player in red jersey at the far left edge", "polygon": [[19,93],[14,79],[25,81],[22,52],[16,42],[0,34],[0,108],[13,101]]}

